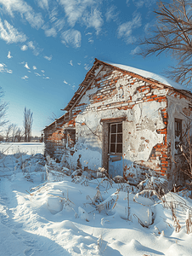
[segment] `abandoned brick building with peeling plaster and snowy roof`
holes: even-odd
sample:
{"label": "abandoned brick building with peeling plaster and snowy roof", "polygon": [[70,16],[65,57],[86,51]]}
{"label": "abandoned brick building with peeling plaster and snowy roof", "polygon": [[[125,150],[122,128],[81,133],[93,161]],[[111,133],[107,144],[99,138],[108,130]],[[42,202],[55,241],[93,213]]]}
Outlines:
{"label": "abandoned brick building with peeling plaster and snowy roof", "polygon": [[192,93],[154,73],[95,59],[65,114],[44,131],[45,152],[66,166],[104,167],[137,180],[149,170],[176,179],[176,137],[191,117]]}

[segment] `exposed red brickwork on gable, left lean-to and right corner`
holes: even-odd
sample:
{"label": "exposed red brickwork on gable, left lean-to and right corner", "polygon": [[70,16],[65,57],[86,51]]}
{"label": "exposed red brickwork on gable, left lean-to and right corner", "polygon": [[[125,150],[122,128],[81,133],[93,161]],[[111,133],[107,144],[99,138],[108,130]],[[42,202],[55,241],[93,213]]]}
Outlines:
{"label": "exposed red brickwork on gable, left lean-to and right corner", "polygon": [[[91,77],[93,79],[93,75]],[[121,82],[120,82],[121,81]],[[131,93],[132,92],[132,93]],[[76,117],[79,114],[85,115],[86,113],[100,113],[104,116],[106,110],[118,110],[120,115],[123,111],[132,110],[136,105],[142,106],[144,102],[162,102],[164,108],[160,108],[161,119],[164,124],[164,128],[156,130],[157,134],[162,135],[163,143],[157,143],[150,152],[148,160],[137,160],[135,167],[139,166],[144,174],[149,168],[155,171],[158,175],[169,177],[171,169],[171,143],[168,143],[167,139],[167,125],[168,125],[168,106],[167,96],[185,99],[191,101],[191,98],[184,96],[174,89],[170,89],[163,84],[157,84],[156,82],[148,79],[140,79],[138,75],[130,75],[127,72],[123,72],[119,69],[104,66],[96,78],[93,79],[92,84],[86,91],[82,93],[82,98],[79,102],[76,102],[75,106],[71,108],[71,113],[65,114],[63,119],[53,125],[49,125],[45,130],[45,143],[47,152],[54,152],[55,156],[61,154],[69,154],[71,148],[66,148],[67,142],[67,129],[76,128]],[[86,100],[85,100],[86,98]],[[68,105],[69,106],[69,105]],[[71,105],[72,106],[72,105]],[[189,116],[190,109],[184,108],[184,113]],[[108,117],[110,118],[110,116]],[[127,120],[129,121],[129,120]],[[80,125],[82,128],[86,126],[83,121]],[[107,125],[104,125],[104,127]],[[140,131],[142,124],[136,124],[136,132]],[[103,131],[102,131],[103,132]],[[149,139],[145,137],[141,138],[144,143],[150,143]],[[75,144],[75,137],[72,137]],[[107,142],[106,134],[103,134],[103,140]],[[108,146],[103,145],[103,150],[107,150]],[[68,150],[68,152],[67,152]],[[74,152],[70,153],[74,154]],[[107,157],[107,152],[103,154],[103,157]],[[103,165],[107,167],[107,160],[103,160]],[[127,173],[128,167],[123,166],[124,174]],[[132,174],[129,174],[132,177]]]}

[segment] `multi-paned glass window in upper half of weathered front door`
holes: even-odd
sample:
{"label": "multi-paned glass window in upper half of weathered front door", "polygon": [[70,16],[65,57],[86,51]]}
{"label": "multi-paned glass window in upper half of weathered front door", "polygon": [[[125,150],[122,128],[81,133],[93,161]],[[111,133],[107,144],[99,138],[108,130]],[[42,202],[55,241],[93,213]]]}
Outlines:
{"label": "multi-paned glass window in upper half of weathered front door", "polygon": [[110,124],[109,153],[122,153],[122,123]]}

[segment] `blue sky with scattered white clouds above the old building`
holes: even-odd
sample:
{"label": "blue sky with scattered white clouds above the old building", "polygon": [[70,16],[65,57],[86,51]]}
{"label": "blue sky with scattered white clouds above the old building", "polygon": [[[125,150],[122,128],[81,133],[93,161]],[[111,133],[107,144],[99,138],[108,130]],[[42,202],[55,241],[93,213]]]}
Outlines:
{"label": "blue sky with scattered white clouds above the old building", "polygon": [[0,0],[0,85],[7,118],[33,135],[64,112],[94,58],[163,73],[173,60],[139,55],[138,39],[155,24],[154,0]]}

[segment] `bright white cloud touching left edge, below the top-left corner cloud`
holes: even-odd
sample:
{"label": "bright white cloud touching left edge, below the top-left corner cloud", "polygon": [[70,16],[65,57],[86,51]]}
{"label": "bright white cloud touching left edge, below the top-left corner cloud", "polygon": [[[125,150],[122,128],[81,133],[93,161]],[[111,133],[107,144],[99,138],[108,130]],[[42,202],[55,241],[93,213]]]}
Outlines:
{"label": "bright white cloud touching left edge, below the top-left corner cloud", "polygon": [[10,25],[7,20],[4,20],[4,25],[0,19],[0,36],[8,44],[25,42],[26,36],[22,32],[18,32],[14,26]]}

